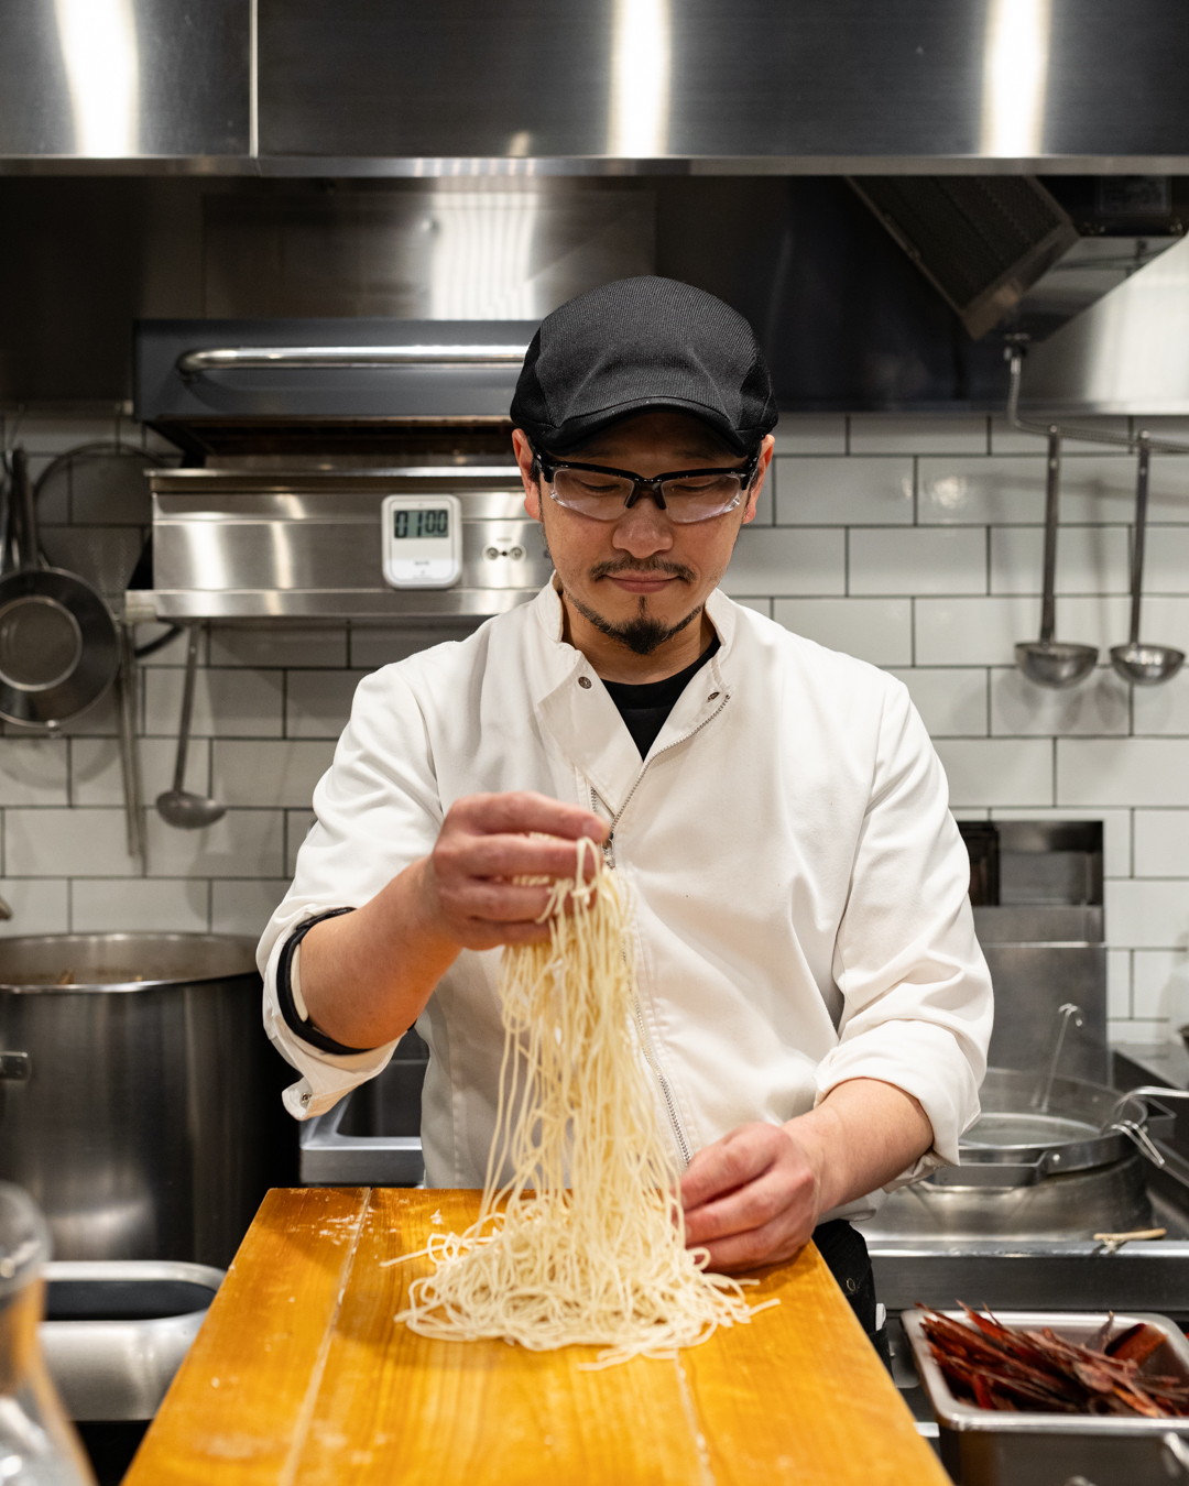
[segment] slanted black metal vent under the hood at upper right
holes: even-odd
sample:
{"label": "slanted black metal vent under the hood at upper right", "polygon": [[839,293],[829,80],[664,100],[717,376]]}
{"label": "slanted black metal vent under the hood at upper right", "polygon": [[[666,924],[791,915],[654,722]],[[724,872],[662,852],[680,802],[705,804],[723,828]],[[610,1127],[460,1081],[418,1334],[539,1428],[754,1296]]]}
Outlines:
{"label": "slanted black metal vent under the hood at upper right", "polygon": [[865,175],[850,184],[975,337],[1078,242],[1033,175]]}

